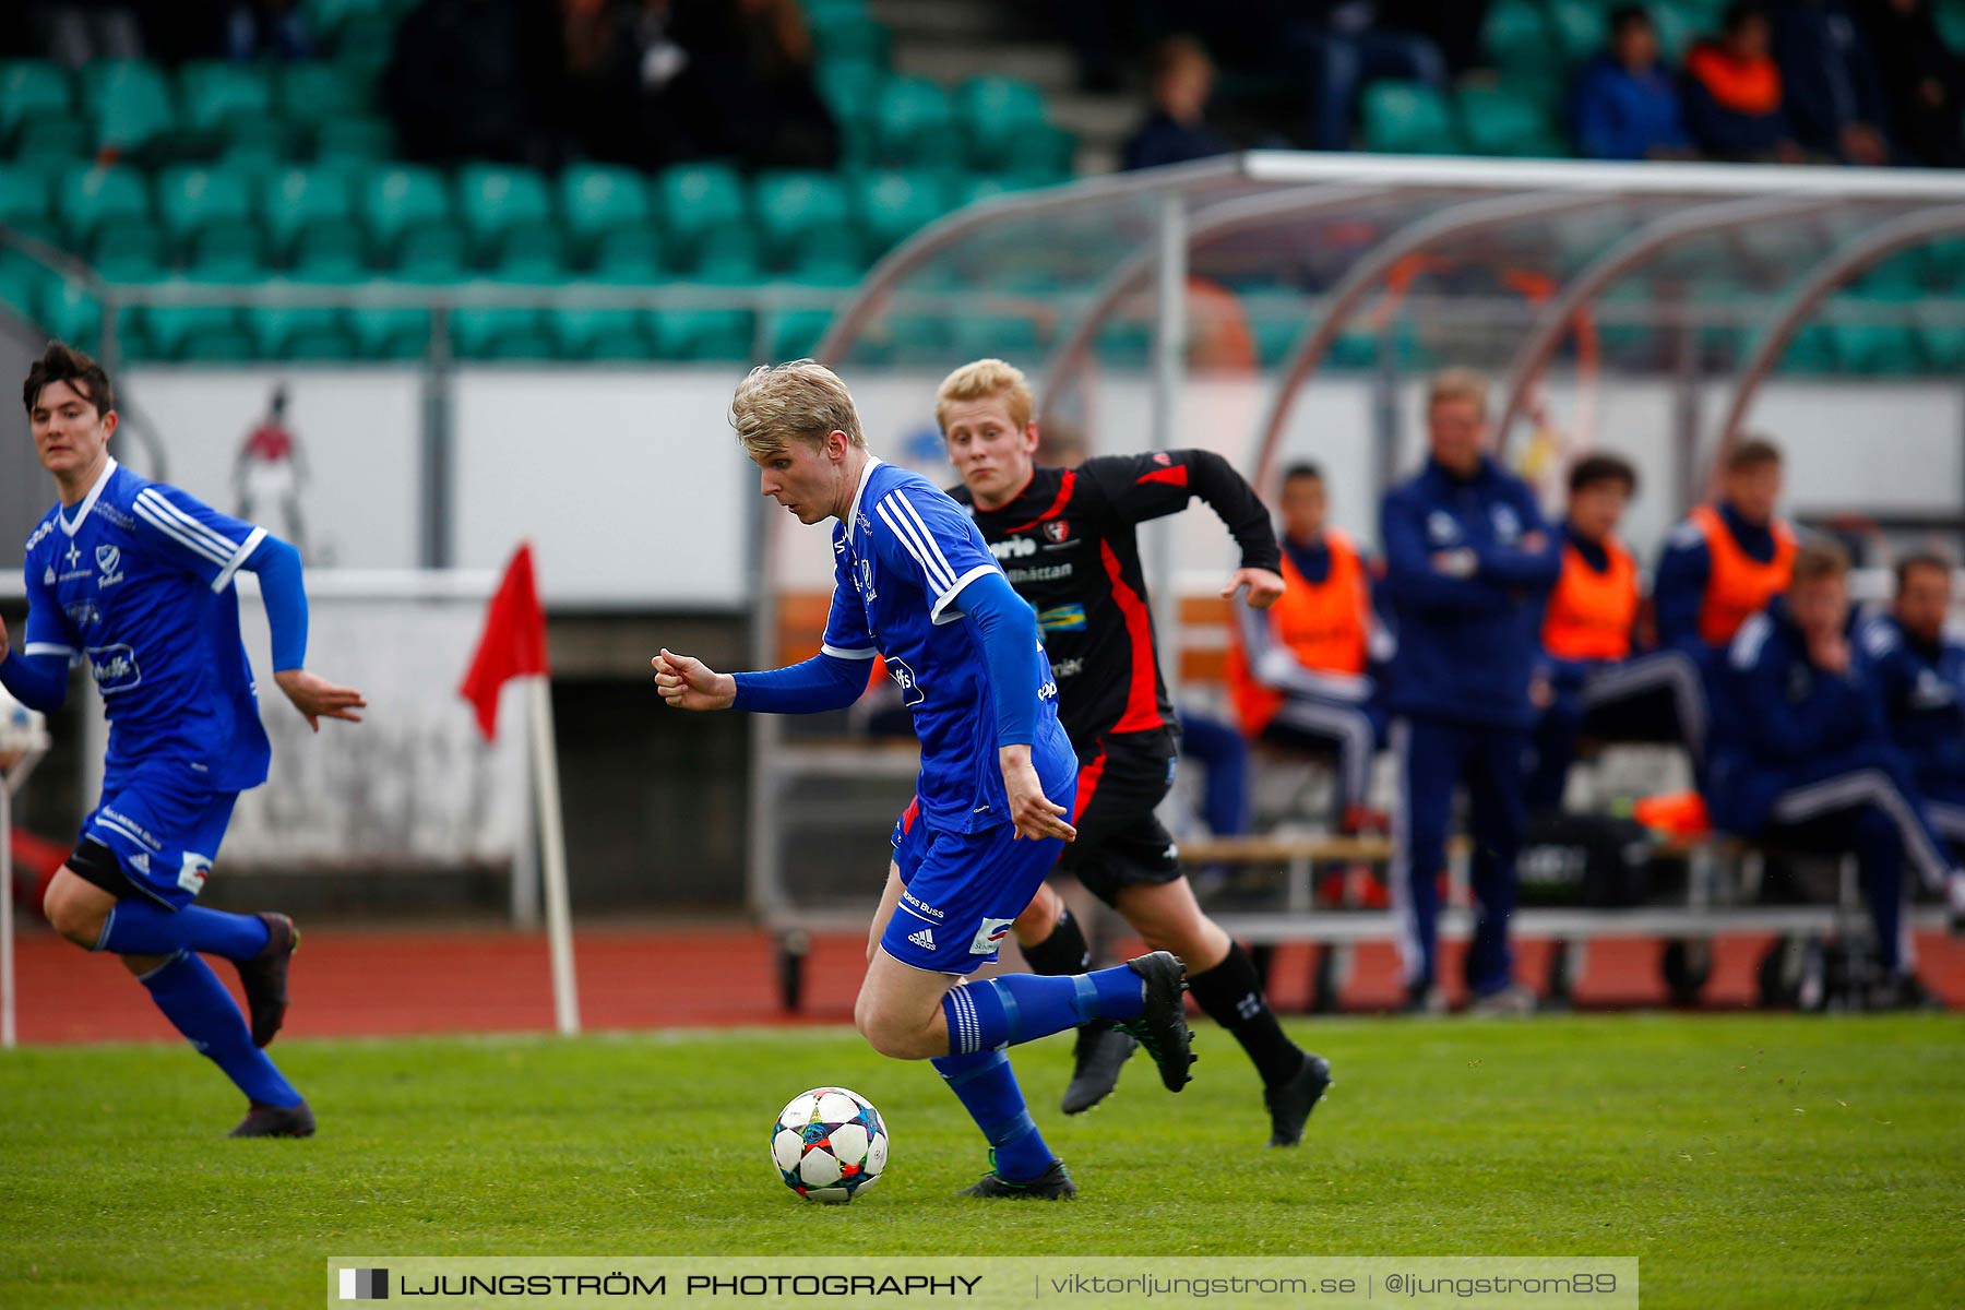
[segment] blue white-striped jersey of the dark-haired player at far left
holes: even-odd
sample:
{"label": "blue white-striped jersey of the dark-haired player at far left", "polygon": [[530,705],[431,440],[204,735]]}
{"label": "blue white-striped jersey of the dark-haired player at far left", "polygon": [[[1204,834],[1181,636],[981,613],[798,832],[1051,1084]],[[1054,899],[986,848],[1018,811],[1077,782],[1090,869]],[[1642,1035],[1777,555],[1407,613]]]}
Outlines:
{"label": "blue white-striped jersey of the dark-haired player at far left", "polygon": [[28,538],[24,654],[83,658],[110,719],[108,768],[175,760],[242,791],[267,746],[232,575],[255,528],[114,460]]}

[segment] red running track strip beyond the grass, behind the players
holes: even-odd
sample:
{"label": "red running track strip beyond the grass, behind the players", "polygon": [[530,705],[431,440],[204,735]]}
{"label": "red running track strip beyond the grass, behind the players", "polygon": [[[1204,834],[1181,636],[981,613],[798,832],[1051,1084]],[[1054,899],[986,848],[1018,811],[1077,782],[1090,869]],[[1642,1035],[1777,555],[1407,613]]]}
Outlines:
{"label": "red running track strip beyond the grass, behind the players", "polygon": [[[305,929],[305,925],[303,925]],[[1710,1008],[1753,1004],[1755,964],[1765,937],[1729,937],[1715,949]],[[1444,976],[1458,976],[1458,945],[1448,945]],[[1576,982],[1586,1008],[1662,1006],[1656,947],[1605,941],[1588,951]],[[814,941],[806,964],[806,1006],[778,1006],[778,964],[770,937],[749,927],[584,927],[576,945],[580,1006],[588,1029],[729,1027],[847,1023],[865,968],[865,939]],[[1539,980],[1544,943],[1523,943],[1519,970]],[[1965,1006],[1965,943],[1918,941],[1926,984]],[[20,1039],[175,1041],[118,960],[88,955],[45,931],[24,933],[18,949]],[[218,974],[234,984],[224,964]],[[1301,1011],[1311,986],[1307,947],[1283,947],[1271,968],[1271,1000]],[[1385,1010],[1399,1000],[1391,947],[1354,951],[1344,1002]],[[525,1033],[552,1029],[546,943],[497,929],[362,931],[307,929],[293,964],[295,1037],[401,1033]]]}

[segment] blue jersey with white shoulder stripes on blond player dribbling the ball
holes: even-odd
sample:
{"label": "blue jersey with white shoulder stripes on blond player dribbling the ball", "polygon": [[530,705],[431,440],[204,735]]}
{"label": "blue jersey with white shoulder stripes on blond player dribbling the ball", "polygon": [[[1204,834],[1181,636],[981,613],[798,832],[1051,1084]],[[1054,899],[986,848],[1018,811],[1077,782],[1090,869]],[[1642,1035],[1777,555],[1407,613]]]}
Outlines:
{"label": "blue jersey with white shoulder stripes on blond player dribbling the ball", "polygon": [[[959,595],[977,577],[1002,573],[963,507],[906,469],[867,460],[853,509],[833,526],[833,607],[825,654],[886,658],[922,738],[916,791],[927,825],[973,833],[1008,823],[996,758],[992,670],[982,634],[963,623]],[[1043,778],[1071,768],[1071,740],[1057,725],[1057,682],[1039,652],[1041,685],[1032,762]]]}

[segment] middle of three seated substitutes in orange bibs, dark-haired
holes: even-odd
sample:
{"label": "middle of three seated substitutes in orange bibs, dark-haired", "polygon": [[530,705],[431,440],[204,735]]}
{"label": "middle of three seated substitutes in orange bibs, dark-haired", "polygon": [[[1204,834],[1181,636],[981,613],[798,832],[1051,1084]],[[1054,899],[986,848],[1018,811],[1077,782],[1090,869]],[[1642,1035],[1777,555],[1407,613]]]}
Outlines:
{"label": "middle of three seated substitutes in orange bibs, dark-haired", "polygon": [[1637,560],[1617,524],[1637,493],[1637,469],[1588,456],[1570,469],[1562,520],[1562,573],[1543,611],[1543,656],[1531,695],[1539,705],[1529,811],[1562,807],[1576,744],[1684,740],[1694,766],[1706,752],[1706,689],[1684,650],[1637,650]]}

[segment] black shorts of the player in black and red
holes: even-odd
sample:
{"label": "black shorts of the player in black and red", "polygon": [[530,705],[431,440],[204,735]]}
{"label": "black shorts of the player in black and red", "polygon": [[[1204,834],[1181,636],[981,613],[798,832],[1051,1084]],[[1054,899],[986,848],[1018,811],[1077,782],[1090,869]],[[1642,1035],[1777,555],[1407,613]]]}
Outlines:
{"label": "black shorts of the player in black and red", "polygon": [[1130,886],[1173,882],[1181,856],[1153,809],[1173,786],[1167,733],[1104,737],[1079,750],[1079,795],[1057,872],[1071,874],[1106,905]]}

